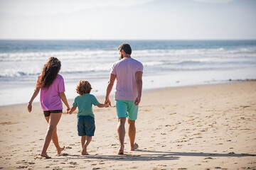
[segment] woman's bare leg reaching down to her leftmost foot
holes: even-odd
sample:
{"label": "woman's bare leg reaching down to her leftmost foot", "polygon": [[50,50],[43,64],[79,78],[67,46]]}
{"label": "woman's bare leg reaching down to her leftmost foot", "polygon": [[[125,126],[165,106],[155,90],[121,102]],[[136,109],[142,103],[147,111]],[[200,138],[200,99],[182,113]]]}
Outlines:
{"label": "woman's bare leg reaching down to her leftmost foot", "polygon": [[[53,133],[56,132],[56,127],[58,125],[58,122],[60,121],[60,117],[61,117],[62,113],[51,113],[50,114],[50,118],[48,120],[48,129],[47,129],[47,132],[46,132],[46,139],[45,139],[45,142],[44,142],[44,145],[43,145],[43,150],[42,150],[42,153],[41,153],[41,157],[46,157],[46,158],[50,158],[47,154],[46,154],[46,151],[50,145],[50,140],[52,140],[53,138]],[[57,136],[57,132],[56,132],[56,136]],[[58,139],[58,137],[57,137]],[[56,141],[56,138],[54,139],[53,142],[58,142]],[[56,145],[55,145],[56,147]],[[57,145],[57,147],[59,147]],[[61,152],[61,151],[60,151]]]}

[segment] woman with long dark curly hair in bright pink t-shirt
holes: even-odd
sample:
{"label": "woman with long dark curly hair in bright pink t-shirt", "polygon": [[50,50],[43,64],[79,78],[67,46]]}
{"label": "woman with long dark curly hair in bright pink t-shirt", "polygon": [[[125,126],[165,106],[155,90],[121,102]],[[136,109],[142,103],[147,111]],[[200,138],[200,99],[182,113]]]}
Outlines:
{"label": "woman with long dark curly hair in bright pink t-shirt", "polygon": [[58,74],[58,72],[60,72],[60,67],[60,60],[55,57],[50,57],[48,62],[43,67],[42,74],[38,76],[36,89],[31,97],[31,100],[28,102],[28,112],[31,112],[33,100],[41,90],[41,108],[48,123],[48,130],[46,132],[46,139],[44,141],[41,157],[46,158],[50,158],[46,153],[50,145],[50,140],[53,140],[58,154],[60,154],[60,152],[65,148],[60,147],[58,143],[57,125],[63,113],[63,104],[61,101],[63,101],[65,106],[67,106],[67,111],[70,110],[70,106],[68,105],[64,92],[65,85],[63,77]]}

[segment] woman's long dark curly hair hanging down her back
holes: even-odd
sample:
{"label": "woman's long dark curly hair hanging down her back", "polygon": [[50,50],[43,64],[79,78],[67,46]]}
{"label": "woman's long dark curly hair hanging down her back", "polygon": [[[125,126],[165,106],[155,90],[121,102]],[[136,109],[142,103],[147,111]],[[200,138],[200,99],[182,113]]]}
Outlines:
{"label": "woman's long dark curly hair hanging down her back", "polygon": [[60,72],[61,63],[56,57],[50,57],[48,62],[43,66],[41,77],[39,78],[36,87],[48,88],[56,79]]}

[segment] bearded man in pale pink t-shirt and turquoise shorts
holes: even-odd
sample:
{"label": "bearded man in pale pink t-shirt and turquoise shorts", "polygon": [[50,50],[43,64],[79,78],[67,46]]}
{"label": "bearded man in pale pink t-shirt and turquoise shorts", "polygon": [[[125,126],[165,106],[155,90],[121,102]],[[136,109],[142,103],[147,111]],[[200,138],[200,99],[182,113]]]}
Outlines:
{"label": "bearded man in pale pink t-shirt and turquoise shorts", "polygon": [[127,118],[131,151],[139,147],[134,140],[136,135],[135,120],[137,119],[139,102],[142,97],[143,65],[141,62],[132,59],[132,48],[129,44],[120,45],[118,50],[121,60],[114,62],[112,65],[105,103],[110,102],[110,92],[112,91],[114,80],[117,79],[114,100],[118,118],[117,135],[120,145],[118,154],[124,154],[124,125]]}

